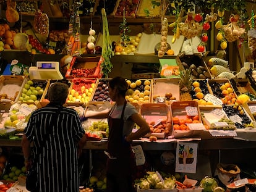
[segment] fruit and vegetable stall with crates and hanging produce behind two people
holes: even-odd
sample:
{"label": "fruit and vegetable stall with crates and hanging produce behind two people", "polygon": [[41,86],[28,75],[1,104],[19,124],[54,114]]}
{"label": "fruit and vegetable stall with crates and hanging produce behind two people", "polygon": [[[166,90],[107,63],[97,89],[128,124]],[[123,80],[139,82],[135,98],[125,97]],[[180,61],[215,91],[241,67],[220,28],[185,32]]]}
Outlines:
{"label": "fruit and vegetable stall with crates and hanging produce behind two people", "polygon": [[[83,116],[113,106],[108,81],[118,75],[151,130],[132,142],[137,191],[254,191],[255,1],[0,6],[0,190],[26,191],[23,130],[61,81],[87,136],[80,191],[105,191],[108,122]],[[221,180],[233,169],[232,182]]]}

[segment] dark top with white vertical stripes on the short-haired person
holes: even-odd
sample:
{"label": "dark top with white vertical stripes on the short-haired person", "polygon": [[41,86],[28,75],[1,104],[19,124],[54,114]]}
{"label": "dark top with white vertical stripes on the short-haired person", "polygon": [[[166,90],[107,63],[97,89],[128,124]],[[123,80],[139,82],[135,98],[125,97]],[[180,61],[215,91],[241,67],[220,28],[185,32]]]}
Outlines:
{"label": "dark top with white vertical stripes on the short-haired person", "polygon": [[[33,141],[33,158],[40,152],[36,166],[39,170],[38,191],[78,192],[77,143],[84,130],[74,109],[63,107],[58,114],[56,111],[58,106],[46,106],[34,111],[25,128],[28,140]],[[48,135],[47,140],[43,141],[45,134]]]}

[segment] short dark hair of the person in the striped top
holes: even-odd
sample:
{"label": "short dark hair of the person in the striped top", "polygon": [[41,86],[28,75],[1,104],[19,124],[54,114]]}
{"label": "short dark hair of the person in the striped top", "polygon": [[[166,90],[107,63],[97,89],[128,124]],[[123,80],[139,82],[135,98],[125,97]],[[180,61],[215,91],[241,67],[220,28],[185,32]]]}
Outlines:
{"label": "short dark hair of the person in the striped top", "polygon": [[49,86],[48,96],[50,102],[64,104],[69,94],[69,87],[65,83],[53,83]]}

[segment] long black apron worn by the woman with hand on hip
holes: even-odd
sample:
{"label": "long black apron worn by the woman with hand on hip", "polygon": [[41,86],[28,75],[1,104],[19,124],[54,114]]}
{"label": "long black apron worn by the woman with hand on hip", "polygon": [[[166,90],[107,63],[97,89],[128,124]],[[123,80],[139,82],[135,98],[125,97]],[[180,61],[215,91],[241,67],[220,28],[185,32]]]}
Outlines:
{"label": "long black apron worn by the woman with hand on hip", "polygon": [[[127,102],[122,108],[121,119],[108,117],[109,136],[108,136],[108,161],[107,172],[113,175],[134,175],[136,171],[135,154],[132,151],[130,143],[124,140],[124,109]],[[113,111],[112,111],[113,112]]]}

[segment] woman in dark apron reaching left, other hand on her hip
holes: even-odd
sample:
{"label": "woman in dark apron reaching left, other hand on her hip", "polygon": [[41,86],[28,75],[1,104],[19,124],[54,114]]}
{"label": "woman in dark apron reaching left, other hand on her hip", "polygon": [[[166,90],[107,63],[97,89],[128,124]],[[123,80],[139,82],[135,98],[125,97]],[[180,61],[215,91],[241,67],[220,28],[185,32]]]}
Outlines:
{"label": "woman in dark apron reaching left, other hand on her hip", "polygon": [[[109,96],[115,102],[110,112],[93,115],[93,118],[108,117],[109,137],[107,160],[107,191],[134,191],[136,163],[130,142],[138,140],[150,132],[148,123],[135,107],[126,102],[128,89],[126,80],[115,77],[109,81]],[[88,117],[86,115],[86,117]],[[132,133],[135,123],[140,127]]]}

